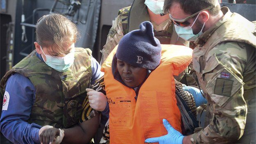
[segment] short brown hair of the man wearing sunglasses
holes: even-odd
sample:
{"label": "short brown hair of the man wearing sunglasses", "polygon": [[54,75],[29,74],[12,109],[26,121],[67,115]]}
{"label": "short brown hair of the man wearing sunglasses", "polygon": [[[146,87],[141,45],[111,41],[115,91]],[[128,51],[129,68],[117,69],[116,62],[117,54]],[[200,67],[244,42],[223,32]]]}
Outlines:
{"label": "short brown hair of the man wearing sunglasses", "polygon": [[207,7],[214,6],[208,9],[211,15],[215,16],[220,11],[220,5],[218,0],[165,0],[164,11],[168,13],[168,9],[173,5],[173,3],[179,3],[181,8],[186,14],[194,14]]}

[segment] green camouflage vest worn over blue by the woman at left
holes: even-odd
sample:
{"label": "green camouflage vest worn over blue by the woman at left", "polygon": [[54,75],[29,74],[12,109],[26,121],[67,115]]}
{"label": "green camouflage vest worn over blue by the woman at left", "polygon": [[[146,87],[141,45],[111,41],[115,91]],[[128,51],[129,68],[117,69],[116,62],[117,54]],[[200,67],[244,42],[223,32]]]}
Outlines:
{"label": "green camouflage vest worn over blue by the woman at left", "polygon": [[75,48],[75,61],[66,72],[59,72],[41,61],[34,50],[16,64],[1,80],[1,89],[13,73],[29,78],[36,96],[29,123],[69,128],[79,123],[85,89],[91,81],[91,50]]}

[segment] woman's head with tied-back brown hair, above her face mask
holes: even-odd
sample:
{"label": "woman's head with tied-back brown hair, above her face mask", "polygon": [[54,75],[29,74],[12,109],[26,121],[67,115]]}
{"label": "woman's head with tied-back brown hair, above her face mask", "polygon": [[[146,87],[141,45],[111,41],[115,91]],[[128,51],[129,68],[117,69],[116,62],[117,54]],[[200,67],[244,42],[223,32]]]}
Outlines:
{"label": "woman's head with tied-back brown hair, above her face mask", "polygon": [[42,16],[36,25],[37,42],[40,46],[57,46],[57,52],[62,54],[64,46],[75,43],[78,30],[74,23],[60,14]]}

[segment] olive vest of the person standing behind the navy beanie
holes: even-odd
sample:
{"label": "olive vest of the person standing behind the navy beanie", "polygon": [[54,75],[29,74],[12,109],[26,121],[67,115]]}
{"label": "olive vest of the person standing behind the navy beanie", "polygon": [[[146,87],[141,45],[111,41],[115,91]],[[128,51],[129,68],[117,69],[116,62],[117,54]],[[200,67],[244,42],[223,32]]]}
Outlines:
{"label": "olive vest of the person standing behind the navy beanie", "polygon": [[[144,2],[135,0],[132,6],[124,7],[118,11],[118,15],[121,14],[123,35],[137,30],[139,24],[144,21],[150,21],[149,13]],[[169,26],[167,31],[156,31],[154,30],[155,37],[160,41],[161,44],[170,44],[171,35],[173,32],[173,23]]]}

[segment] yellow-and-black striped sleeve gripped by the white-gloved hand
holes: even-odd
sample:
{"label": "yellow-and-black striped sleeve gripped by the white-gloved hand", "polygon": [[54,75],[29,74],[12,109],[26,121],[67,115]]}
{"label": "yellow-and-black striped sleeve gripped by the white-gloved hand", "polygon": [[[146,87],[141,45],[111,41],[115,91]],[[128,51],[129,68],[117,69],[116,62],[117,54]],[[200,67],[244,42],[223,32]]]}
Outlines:
{"label": "yellow-and-black striped sleeve gripped by the white-gloved hand", "polygon": [[[94,85],[91,85],[91,89],[94,89],[96,91],[100,91],[100,92],[102,92],[103,94],[106,95],[105,84],[104,84],[104,76],[102,76],[101,78],[96,80]],[[80,119],[80,123],[93,118],[98,113],[98,111],[96,111],[96,110],[94,110],[90,107],[88,97],[85,98],[82,107],[83,107],[83,112],[82,112],[82,117]]]}

